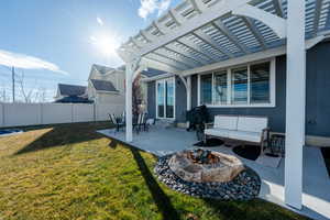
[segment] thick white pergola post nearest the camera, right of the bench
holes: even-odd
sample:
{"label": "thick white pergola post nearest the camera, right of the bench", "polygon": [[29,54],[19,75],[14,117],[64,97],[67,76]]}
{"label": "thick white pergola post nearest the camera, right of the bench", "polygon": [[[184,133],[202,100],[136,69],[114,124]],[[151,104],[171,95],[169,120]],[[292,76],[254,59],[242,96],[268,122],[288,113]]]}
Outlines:
{"label": "thick white pergola post nearest the camera, right of the bench", "polygon": [[305,145],[305,1],[289,0],[287,12],[285,202],[301,209]]}

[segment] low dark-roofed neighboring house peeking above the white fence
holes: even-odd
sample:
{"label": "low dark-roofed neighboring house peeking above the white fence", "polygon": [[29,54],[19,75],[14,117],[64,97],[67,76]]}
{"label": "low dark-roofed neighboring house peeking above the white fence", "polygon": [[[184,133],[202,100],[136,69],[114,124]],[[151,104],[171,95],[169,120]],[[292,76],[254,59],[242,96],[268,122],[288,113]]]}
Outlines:
{"label": "low dark-roofed neighboring house peeking above the white fence", "polygon": [[54,99],[57,103],[89,103],[91,101],[88,100],[86,92],[86,86],[58,84]]}

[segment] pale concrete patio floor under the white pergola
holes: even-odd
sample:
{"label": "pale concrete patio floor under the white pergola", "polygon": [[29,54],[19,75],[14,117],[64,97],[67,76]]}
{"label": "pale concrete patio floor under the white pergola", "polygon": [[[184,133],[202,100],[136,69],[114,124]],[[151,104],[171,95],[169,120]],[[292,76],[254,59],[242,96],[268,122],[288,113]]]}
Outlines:
{"label": "pale concrete patio floor under the white pergola", "polygon": [[[125,143],[125,133],[123,131],[101,130],[99,132],[110,139]],[[148,132],[134,134],[133,142],[130,145],[162,156],[186,148],[194,148],[196,142],[198,141],[195,132],[154,125]],[[226,146],[211,147],[211,150],[234,154],[230,147]],[[262,178],[260,198],[284,206],[312,219],[330,219],[330,178],[318,147],[306,146],[304,148],[302,210],[293,209],[284,204],[284,160],[280,161],[277,168],[245,158],[241,160],[257,172]]]}

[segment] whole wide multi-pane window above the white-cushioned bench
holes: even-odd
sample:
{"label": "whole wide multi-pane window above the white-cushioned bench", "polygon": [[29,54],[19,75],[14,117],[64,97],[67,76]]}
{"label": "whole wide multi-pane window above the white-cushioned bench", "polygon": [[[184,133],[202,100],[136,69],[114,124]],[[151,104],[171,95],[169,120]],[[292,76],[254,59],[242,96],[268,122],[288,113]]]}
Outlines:
{"label": "whole wide multi-pane window above the white-cushioned bench", "polygon": [[200,75],[199,92],[209,107],[275,107],[275,59]]}

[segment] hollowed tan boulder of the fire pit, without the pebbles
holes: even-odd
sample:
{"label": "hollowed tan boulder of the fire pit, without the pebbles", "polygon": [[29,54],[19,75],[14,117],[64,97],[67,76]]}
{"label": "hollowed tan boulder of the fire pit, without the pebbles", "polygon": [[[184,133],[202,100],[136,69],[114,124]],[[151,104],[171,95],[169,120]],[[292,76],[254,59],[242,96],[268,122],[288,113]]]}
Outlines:
{"label": "hollowed tan boulder of the fire pit, without the pebbles", "polygon": [[231,182],[245,169],[234,156],[204,150],[174,154],[168,166],[180,178],[196,183]]}

